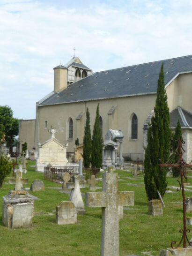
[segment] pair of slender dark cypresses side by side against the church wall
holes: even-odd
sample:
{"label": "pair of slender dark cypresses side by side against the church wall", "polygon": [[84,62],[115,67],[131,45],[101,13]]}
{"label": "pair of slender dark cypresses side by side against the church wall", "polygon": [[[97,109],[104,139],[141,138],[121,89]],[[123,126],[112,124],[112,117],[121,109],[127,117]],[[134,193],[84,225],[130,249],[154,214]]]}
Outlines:
{"label": "pair of slender dark cypresses side by side against the church wall", "polygon": [[91,140],[90,129],[90,114],[87,107],[86,124],[83,137],[83,164],[85,168],[89,168],[90,163],[92,168],[100,168],[102,165],[102,148],[103,138],[99,125],[99,103],[96,108],[96,120],[93,128],[93,136]]}

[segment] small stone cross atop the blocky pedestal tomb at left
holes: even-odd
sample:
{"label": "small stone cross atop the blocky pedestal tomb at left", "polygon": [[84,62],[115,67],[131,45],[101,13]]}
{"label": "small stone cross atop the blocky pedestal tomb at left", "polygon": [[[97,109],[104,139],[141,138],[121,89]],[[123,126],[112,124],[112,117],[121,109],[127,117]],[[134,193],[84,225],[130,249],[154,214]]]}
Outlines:
{"label": "small stone cross atop the blocky pedestal tomb at left", "polygon": [[9,184],[15,184],[15,191],[21,191],[23,184],[28,184],[28,179],[22,179],[22,173],[27,173],[26,169],[22,169],[22,165],[19,165],[19,169],[15,169],[15,179],[9,179]]}

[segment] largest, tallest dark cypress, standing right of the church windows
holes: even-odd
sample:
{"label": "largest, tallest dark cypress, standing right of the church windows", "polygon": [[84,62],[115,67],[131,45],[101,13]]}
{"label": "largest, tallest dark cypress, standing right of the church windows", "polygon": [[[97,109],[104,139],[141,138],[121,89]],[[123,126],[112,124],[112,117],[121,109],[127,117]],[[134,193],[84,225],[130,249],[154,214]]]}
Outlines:
{"label": "largest, tallest dark cypress, standing right of the church windows", "polygon": [[164,196],[167,182],[165,168],[160,168],[159,159],[165,163],[170,155],[170,114],[167,105],[167,95],[164,88],[163,64],[159,73],[157,98],[155,102],[155,116],[151,119],[148,129],[148,146],[145,149],[145,190],[148,200],[158,199],[157,189]]}

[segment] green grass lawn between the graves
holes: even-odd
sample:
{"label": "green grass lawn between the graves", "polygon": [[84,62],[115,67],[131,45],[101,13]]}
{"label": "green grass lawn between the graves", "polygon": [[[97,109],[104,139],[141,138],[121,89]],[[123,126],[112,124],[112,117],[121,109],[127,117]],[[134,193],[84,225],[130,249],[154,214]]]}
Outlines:
{"label": "green grass lawn between the graves", "polygon": [[[69,195],[60,193],[61,184],[44,180],[43,173],[35,172],[35,161],[28,160],[28,171],[23,178],[29,178],[28,185],[35,179],[44,181],[45,191],[32,192],[37,196],[35,200],[35,214],[32,226],[21,229],[8,229],[2,224],[2,203],[0,204],[0,256],[99,256],[101,238],[101,208],[85,208],[86,215],[78,215],[77,223],[60,226],[56,224],[55,207],[68,200]],[[152,256],[159,255],[160,248],[170,247],[170,242],[181,239],[179,230],[183,228],[182,192],[170,189],[175,193],[166,193],[163,200],[165,208],[163,215],[152,217],[148,215],[148,200],[145,193],[143,176],[132,180],[132,173],[119,173],[119,191],[134,191],[134,206],[124,210],[124,218],[119,220],[119,250],[120,256],[135,254],[143,256],[142,252],[149,252]],[[9,177],[12,174],[9,175]],[[6,177],[5,181],[7,181]],[[178,186],[174,178],[167,178],[168,186]],[[192,185],[192,178],[188,179]],[[142,185],[141,187],[127,185],[127,183]],[[15,185],[3,184],[0,197],[7,195]],[[100,181],[96,186],[102,187]],[[56,188],[51,188],[56,187]],[[81,192],[89,191],[89,187],[81,188]],[[102,191],[102,189],[97,189]],[[192,192],[185,192],[185,198],[192,196]],[[85,198],[83,197],[83,200]],[[192,217],[187,213],[186,217]],[[190,226],[187,226],[190,229]],[[192,234],[188,233],[188,238]]]}

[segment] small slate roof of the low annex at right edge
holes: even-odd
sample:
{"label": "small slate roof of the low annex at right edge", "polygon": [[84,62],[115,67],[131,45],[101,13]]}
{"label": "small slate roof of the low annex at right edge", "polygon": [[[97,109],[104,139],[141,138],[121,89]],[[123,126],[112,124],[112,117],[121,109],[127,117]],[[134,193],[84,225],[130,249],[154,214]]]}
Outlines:
{"label": "small slate roof of the low annex at right edge", "polygon": [[192,127],[192,113],[180,106],[170,112],[170,127],[176,127],[178,120],[181,127]]}

